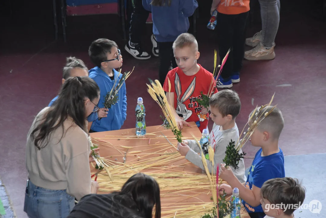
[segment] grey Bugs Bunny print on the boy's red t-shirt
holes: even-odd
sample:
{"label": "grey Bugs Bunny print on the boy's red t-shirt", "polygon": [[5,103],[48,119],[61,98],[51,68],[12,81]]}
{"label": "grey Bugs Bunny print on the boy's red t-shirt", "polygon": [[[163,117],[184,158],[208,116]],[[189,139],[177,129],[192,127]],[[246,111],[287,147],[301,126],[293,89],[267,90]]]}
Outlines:
{"label": "grey Bugs Bunny print on the boy's red t-shirt", "polygon": [[177,94],[177,106],[176,106],[176,112],[183,120],[187,120],[191,114],[192,110],[188,110],[184,104],[184,102],[192,95],[192,93],[195,90],[195,84],[196,84],[196,76],[190,83],[189,87],[183,94],[183,96],[180,98],[181,95],[181,83],[179,79],[179,75],[175,73],[175,79],[174,79],[174,85],[175,85],[175,92]]}

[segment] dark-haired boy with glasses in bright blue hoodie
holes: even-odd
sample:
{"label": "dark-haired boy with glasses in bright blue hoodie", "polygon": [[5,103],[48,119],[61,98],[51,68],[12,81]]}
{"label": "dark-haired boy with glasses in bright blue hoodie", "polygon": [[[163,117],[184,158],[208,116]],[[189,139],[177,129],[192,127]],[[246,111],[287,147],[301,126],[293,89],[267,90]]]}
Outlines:
{"label": "dark-haired boy with glasses in bright blue hoodie", "polygon": [[[100,88],[99,108],[104,107],[105,95],[111,91],[114,80],[122,77],[115,68],[122,66],[122,55],[118,45],[108,39],[97,39],[89,46],[89,57],[96,65],[89,71],[91,77]],[[117,85],[117,84],[115,84]],[[124,83],[118,92],[118,102],[108,110],[105,118],[92,123],[90,132],[102,132],[120,129],[127,117],[126,84]]]}

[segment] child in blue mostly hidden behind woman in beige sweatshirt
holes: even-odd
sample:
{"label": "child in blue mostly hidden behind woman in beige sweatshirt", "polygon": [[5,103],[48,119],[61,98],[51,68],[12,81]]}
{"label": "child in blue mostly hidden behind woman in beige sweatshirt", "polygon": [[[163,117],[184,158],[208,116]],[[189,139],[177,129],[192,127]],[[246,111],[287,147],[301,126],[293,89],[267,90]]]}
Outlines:
{"label": "child in blue mostly hidden behind woman in beige sweatshirt", "polygon": [[[68,79],[69,77],[73,76],[88,76],[88,69],[84,62],[81,59],[76,59],[75,57],[68,57],[66,65],[63,68],[62,74],[62,84]],[[49,103],[48,107],[51,107],[54,102],[57,100],[59,95],[55,96],[52,101]],[[94,112],[92,112],[88,117],[87,121],[89,125],[91,122],[97,120],[98,118],[103,118],[107,116],[106,108],[99,109],[97,106],[94,108]],[[89,126],[90,127],[90,126]]]}

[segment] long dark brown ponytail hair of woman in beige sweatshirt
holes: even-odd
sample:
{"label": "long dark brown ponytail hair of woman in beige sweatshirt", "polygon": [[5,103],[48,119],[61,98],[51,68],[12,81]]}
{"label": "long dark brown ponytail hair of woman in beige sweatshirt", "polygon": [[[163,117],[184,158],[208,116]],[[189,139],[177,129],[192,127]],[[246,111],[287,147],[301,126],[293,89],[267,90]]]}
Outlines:
{"label": "long dark brown ponytail hair of woman in beige sweatshirt", "polygon": [[[64,122],[71,117],[75,124],[87,133],[85,119],[85,98],[91,101],[99,96],[99,88],[96,82],[88,76],[68,78],[55,103],[43,115],[35,129],[31,133],[31,139],[38,149],[44,148],[49,143],[51,133],[62,126],[62,137],[64,136]],[[60,139],[60,140],[61,140]]]}

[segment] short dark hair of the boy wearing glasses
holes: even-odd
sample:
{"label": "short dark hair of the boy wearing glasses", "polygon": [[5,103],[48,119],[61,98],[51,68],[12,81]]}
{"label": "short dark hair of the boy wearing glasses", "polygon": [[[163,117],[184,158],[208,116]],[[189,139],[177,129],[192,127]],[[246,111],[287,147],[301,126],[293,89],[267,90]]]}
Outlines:
{"label": "short dark hair of the boy wearing glasses", "polygon": [[108,39],[97,39],[92,42],[88,49],[88,55],[91,61],[97,67],[101,67],[101,63],[107,60],[107,54],[111,54],[111,48],[117,47],[117,43]]}

